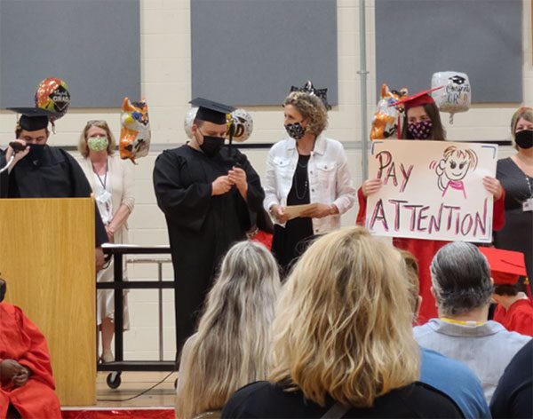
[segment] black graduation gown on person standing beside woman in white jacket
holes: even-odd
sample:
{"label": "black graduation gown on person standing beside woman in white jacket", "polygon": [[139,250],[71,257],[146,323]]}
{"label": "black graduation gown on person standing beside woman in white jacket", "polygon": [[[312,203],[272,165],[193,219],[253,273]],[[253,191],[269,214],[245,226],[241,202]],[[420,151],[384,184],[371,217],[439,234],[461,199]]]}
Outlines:
{"label": "black graduation gown on person standing beside woman in white jacket", "polygon": [[[246,171],[247,201],[233,187],[211,196],[211,183],[235,162]],[[223,147],[209,158],[190,146],[165,150],[155,161],[157,204],[166,217],[175,279],[176,344],[181,349],[195,332],[195,321],[211,289],[220,258],[245,239],[262,209],[265,193],[244,154]]]}

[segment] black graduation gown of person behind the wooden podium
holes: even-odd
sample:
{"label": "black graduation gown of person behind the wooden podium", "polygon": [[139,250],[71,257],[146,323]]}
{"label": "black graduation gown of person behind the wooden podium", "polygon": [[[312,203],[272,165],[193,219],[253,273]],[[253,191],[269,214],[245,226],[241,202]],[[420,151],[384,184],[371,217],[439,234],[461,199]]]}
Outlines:
{"label": "black graduation gown of person behind the wooden podium", "polygon": [[[0,155],[0,168],[4,167],[5,155]],[[0,179],[1,198],[86,198],[91,196],[91,186],[76,159],[66,151],[44,146],[38,161],[31,161],[28,154],[7,170]],[[107,242],[106,228],[95,205],[96,246]]]}

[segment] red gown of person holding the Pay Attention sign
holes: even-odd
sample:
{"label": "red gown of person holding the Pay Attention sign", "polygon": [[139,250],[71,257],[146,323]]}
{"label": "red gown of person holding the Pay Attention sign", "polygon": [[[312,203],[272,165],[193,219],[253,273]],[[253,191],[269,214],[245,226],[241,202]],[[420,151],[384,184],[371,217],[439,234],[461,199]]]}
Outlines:
{"label": "red gown of person holding the Pay Attention sign", "polygon": [[[366,217],[366,197],[362,194],[362,188],[357,191],[357,198],[359,199],[359,212],[357,213],[356,223],[358,225],[365,225]],[[493,204],[493,218],[492,229],[494,231],[500,230],[505,224],[505,191],[499,200]],[[437,307],[435,305],[434,296],[431,295],[431,274],[429,273],[429,266],[435,254],[449,241],[440,240],[422,240],[422,239],[408,239],[394,237],[393,244],[398,249],[409,250],[418,261],[418,280],[420,283],[420,296],[422,296],[422,304],[420,312],[418,313],[418,324],[424,324],[427,320],[437,317]]]}

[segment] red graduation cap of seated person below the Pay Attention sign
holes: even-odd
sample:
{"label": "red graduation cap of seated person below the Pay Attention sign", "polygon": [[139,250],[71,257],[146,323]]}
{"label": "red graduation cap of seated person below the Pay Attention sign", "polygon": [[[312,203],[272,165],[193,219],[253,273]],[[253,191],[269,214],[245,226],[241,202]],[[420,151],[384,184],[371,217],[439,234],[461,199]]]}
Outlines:
{"label": "red graduation cap of seated person below the Pay Attention sign", "polygon": [[490,274],[495,284],[515,284],[519,276],[526,275],[523,253],[496,248],[479,249],[489,261]]}

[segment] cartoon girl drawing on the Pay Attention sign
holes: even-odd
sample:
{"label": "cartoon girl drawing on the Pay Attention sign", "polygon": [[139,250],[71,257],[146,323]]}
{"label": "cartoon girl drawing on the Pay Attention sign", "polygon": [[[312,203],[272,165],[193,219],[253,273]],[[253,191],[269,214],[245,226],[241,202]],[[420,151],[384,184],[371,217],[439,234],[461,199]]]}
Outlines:
{"label": "cartoon girl drawing on the Pay Attention sign", "polygon": [[466,198],[463,179],[468,172],[475,170],[478,157],[470,148],[461,149],[449,146],[444,150],[442,159],[436,165],[435,172],[438,176],[437,185],[444,196],[449,189],[461,191]]}

